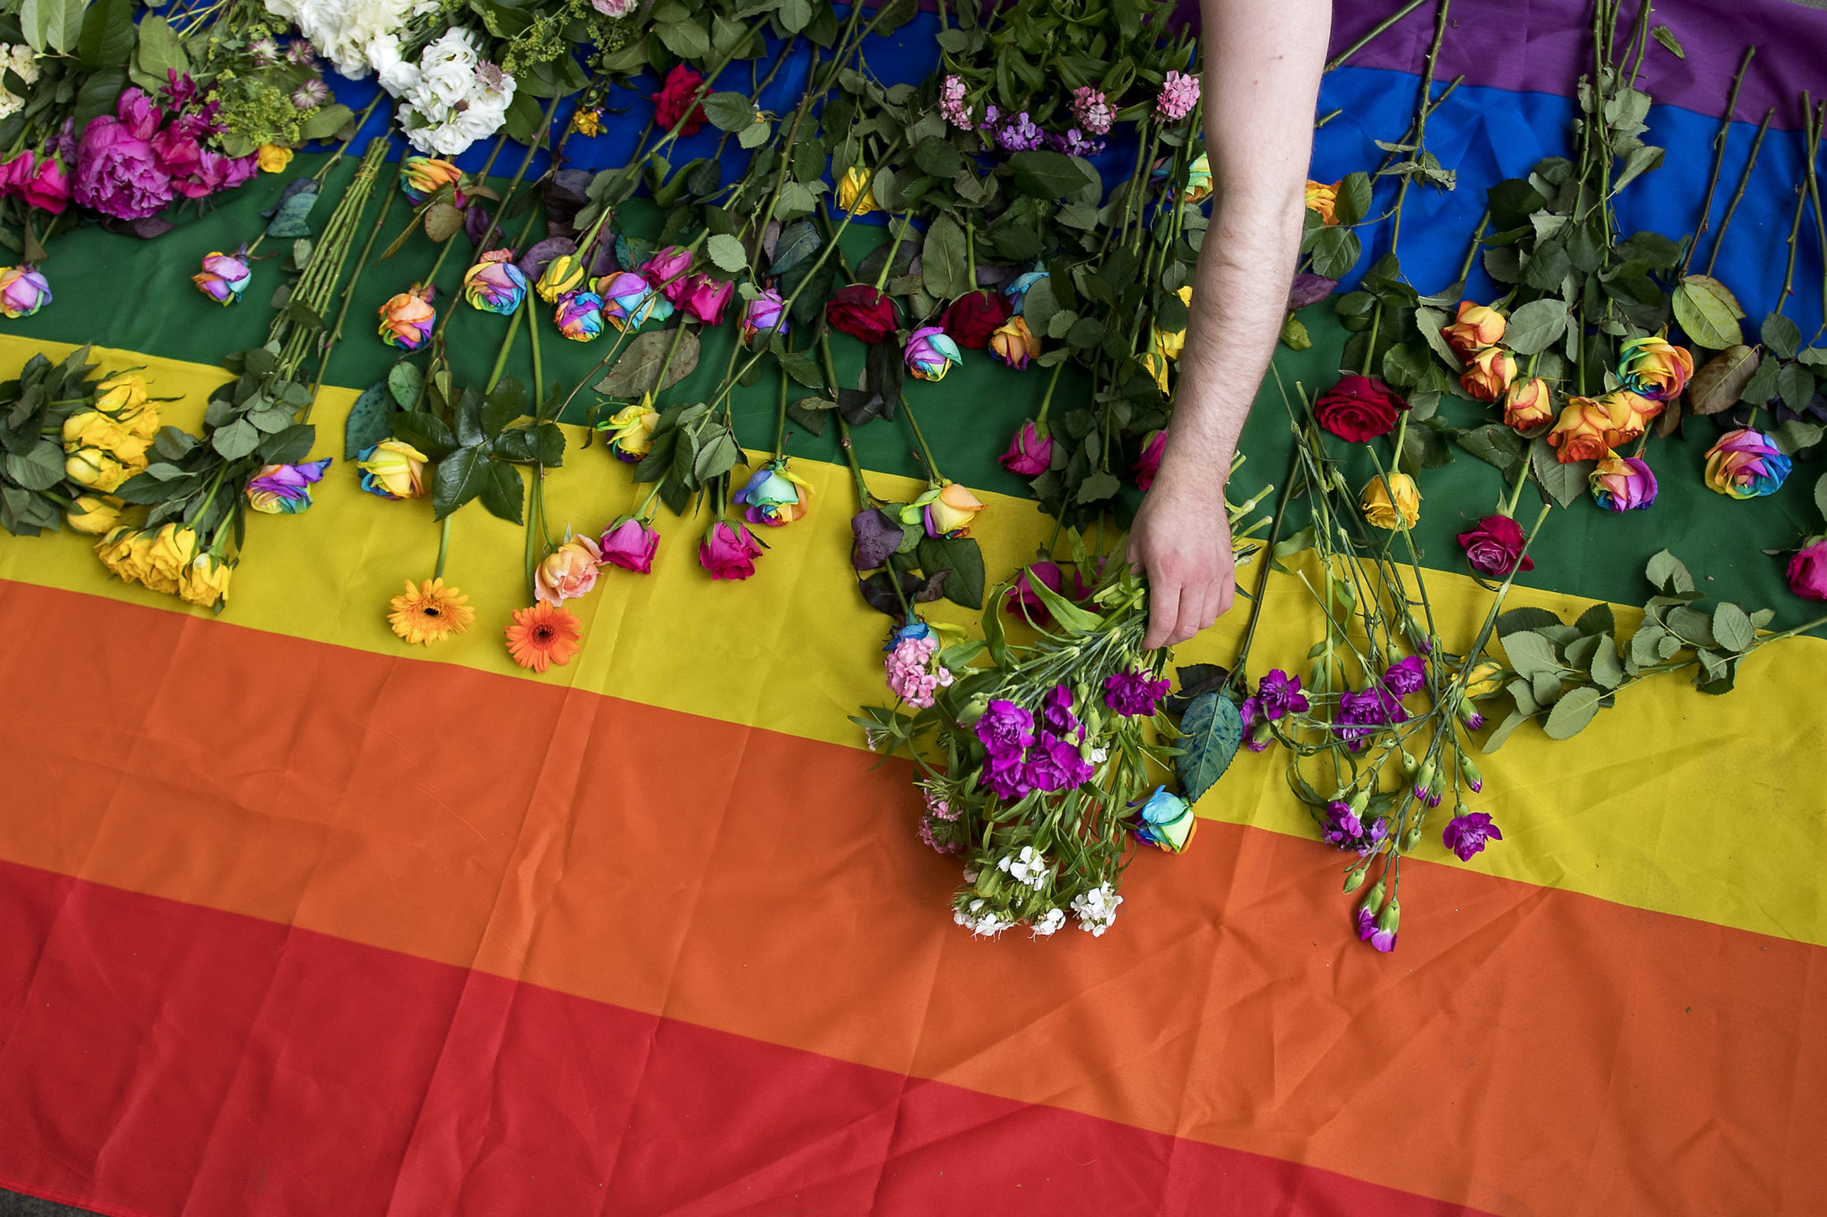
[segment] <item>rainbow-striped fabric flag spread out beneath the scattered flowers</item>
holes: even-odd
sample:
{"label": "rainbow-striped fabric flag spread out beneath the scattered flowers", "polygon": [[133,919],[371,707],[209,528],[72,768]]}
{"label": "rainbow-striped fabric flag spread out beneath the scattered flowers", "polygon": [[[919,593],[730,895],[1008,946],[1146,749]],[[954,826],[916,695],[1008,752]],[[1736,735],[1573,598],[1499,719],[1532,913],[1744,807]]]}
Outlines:
{"label": "rainbow-striped fabric flag spread out beneath the scattered flowers", "polygon": [[[1389,11],[1341,5],[1336,47]],[[1412,204],[1423,290],[1454,276],[1482,186],[1566,144],[1582,20],[1562,0],[1454,15],[1440,75],[1467,80],[1431,144],[1462,181]],[[1328,77],[1321,109],[1345,113],[1315,177],[1399,137],[1431,20]],[[1743,42],[1772,31],[1750,80],[1785,106],[1827,15],[1666,20],[1688,55],[1648,80],[1668,166],[1628,206],[1681,235]],[[1739,119],[1767,104],[1752,88]],[[1717,272],[1754,316],[1800,172],[1779,113]],[[203,347],[241,345],[223,330],[258,310],[163,286],[186,239],[208,243],[179,230],[106,266],[155,307],[46,310],[0,336],[0,374],[99,336],[195,425],[225,378]],[[69,241],[73,279],[121,248]],[[1818,272],[1805,255],[1798,281]],[[1283,354],[1290,380],[1336,374],[1328,312]],[[1790,316],[1822,321],[1809,292]],[[338,354],[325,436],[376,359]],[[966,367],[910,396],[990,504],[990,571],[1012,571],[1049,520],[992,456],[1036,380]],[[1279,409],[1246,440],[1257,485]],[[771,412],[766,385],[738,403],[751,449]],[[634,491],[570,438],[548,516],[597,529]],[[871,487],[906,489],[904,438],[861,438]],[[1703,447],[1670,443],[1666,509],[1560,513],[1515,604],[1641,600],[1642,558],[1675,546],[1800,620],[1758,546],[1807,531],[1807,487],[1683,494]],[[829,436],[795,452],[835,460]],[[1518,732],[1484,766],[1502,845],[1414,854],[1394,954],[1350,932],[1275,754],[1239,757],[1188,854],[1136,859],[1104,938],[985,943],[950,921],[956,867],[915,839],[908,765],[846,723],[881,697],[882,619],[844,562],[833,460],[798,462],[813,511],[749,582],[707,580],[702,522],[663,516],[654,573],[574,602],[585,646],[544,677],[501,644],[523,535],[479,511],[448,571],[475,628],[400,646],[385,602],[437,529],[343,465],[309,513],[250,520],[221,617],[108,582],[77,536],[0,538],[0,1186],[132,1217],[1827,1212],[1822,640],[1754,657],[1723,699],[1661,681],[1573,741]],[[1494,487],[1471,465],[1438,471],[1452,502]],[[1454,524],[1432,522],[1429,588],[1442,633],[1469,637],[1487,593],[1452,571]],[[1290,578],[1270,597],[1255,655],[1295,664],[1312,600]],[[1228,662],[1241,617],[1177,659]]]}

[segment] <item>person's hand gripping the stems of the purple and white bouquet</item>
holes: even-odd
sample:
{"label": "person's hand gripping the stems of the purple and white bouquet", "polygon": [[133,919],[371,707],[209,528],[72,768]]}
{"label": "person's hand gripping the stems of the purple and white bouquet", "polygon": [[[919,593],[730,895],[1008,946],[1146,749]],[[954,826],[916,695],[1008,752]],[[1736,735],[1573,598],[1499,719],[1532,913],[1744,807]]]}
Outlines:
{"label": "person's hand gripping the stems of the purple and white bouquet", "polygon": [[1156,476],[1129,531],[1129,562],[1147,571],[1142,646],[1173,646],[1231,608],[1231,524],[1224,493]]}

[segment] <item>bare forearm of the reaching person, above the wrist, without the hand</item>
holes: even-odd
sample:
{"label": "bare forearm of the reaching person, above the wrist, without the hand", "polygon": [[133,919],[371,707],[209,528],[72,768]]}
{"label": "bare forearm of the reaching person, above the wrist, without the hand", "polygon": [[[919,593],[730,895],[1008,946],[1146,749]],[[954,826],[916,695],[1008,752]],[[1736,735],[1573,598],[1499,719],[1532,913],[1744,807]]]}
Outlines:
{"label": "bare forearm of the reaching person, above the wrist, without the hand", "polygon": [[1215,210],[1199,254],[1162,478],[1222,494],[1275,352],[1301,243],[1328,0],[1206,0]]}

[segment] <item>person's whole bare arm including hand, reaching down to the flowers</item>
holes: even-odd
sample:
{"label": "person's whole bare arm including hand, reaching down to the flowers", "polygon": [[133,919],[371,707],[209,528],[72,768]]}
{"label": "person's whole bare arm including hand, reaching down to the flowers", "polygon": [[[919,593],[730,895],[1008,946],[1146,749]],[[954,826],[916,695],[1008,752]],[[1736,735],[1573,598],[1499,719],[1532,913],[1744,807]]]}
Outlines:
{"label": "person's whole bare arm including hand, reaching down to the flowers", "polygon": [[1144,646],[1231,606],[1224,480],[1288,307],[1301,248],[1330,0],[1200,0],[1213,215],[1180,350],[1173,423],[1129,533],[1149,577]]}

